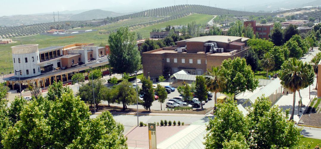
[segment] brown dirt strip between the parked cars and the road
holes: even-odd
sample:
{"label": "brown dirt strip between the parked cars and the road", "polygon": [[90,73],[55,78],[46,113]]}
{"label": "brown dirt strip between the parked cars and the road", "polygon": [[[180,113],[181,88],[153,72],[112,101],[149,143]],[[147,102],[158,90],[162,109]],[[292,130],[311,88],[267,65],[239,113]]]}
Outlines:
{"label": "brown dirt strip between the parked cars and the road", "polygon": [[[89,105],[90,106],[90,105]],[[94,109],[93,107],[89,107],[90,111],[93,112]],[[127,108],[126,110],[123,110],[122,107],[117,107],[117,106],[108,106],[108,105],[104,105],[104,104],[99,104],[98,105],[98,110],[96,110],[96,112],[103,112],[103,111],[109,111],[109,112],[126,112],[126,113],[130,113],[130,112],[136,112],[137,109],[131,109],[131,108]],[[193,110],[151,110],[151,111],[146,111],[143,109],[138,109],[138,112],[141,113],[171,113],[171,114],[201,114],[201,115],[205,115],[208,112],[213,111],[213,108],[204,108],[204,109],[193,109]]]}

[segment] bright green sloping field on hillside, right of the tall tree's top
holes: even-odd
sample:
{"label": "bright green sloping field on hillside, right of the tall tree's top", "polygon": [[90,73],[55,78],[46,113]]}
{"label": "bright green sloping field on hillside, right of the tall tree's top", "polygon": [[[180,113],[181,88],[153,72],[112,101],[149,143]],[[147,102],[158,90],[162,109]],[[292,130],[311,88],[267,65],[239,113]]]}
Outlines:
{"label": "bright green sloping field on hillside, right of the tall tree's top", "polygon": [[201,23],[201,24],[207,24],[207,22],[209,22],[211,19],[213,19],[213,15],[194,13],[179,19],[155,24],[152,26],[137,29],[135,31],[141,33],[143,38],[149,38],[149,32],[151,32],[153,28],[161,29],[166,27],[166,25],[185,25],[185,24],[187,25],[189,22],[192,22],[192,21],[196,21],[197,23]]}

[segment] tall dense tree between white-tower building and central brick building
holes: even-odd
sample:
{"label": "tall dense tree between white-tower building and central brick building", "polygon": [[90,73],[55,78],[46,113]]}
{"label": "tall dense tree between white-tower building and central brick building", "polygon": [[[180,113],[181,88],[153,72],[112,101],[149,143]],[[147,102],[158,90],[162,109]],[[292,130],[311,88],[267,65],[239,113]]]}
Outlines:
{"label": "tall dense tree between white-tower building and central brick building", "polygon": [[141,56],[136,46],[135,33],[129,31],[128,27],[120,27],[117,32],[109,35],[110,53],[109,65],[113,73],[134,73],[141,64]]}

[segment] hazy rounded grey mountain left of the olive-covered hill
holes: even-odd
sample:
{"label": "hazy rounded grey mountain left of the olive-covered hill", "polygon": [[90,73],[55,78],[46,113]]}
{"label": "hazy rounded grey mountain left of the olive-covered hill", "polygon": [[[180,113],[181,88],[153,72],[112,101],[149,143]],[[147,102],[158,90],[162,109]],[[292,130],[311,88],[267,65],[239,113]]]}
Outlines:
{"label": "hazy rounded grey mountain left of the olive-covered hill", "polygon": [[115,12],[105,11],[101,9],[94,9],[83,13],[75,14],[71,16],[68,20],[71,20],[71,21],[87,21],[92,19],[98,20],[98,19],[104,19],[107,17],[117,17],[125,14],[126,13],[115,13]]}

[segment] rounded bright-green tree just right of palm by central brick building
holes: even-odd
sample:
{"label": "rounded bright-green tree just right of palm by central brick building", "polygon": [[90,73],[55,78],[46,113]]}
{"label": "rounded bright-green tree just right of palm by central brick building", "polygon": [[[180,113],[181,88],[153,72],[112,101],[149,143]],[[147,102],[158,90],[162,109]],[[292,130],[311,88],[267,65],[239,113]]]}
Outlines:
{"label": "rounded bright-green tree just right of palm by central brick building", "polygon": [[226,77],[225,92],[234,93],[253,92],[258,86],[258,80],[254,77],[251,66],[247,65],[244,58],[236,57],[233,60],[227,59],[222,62],[221,71]]}

